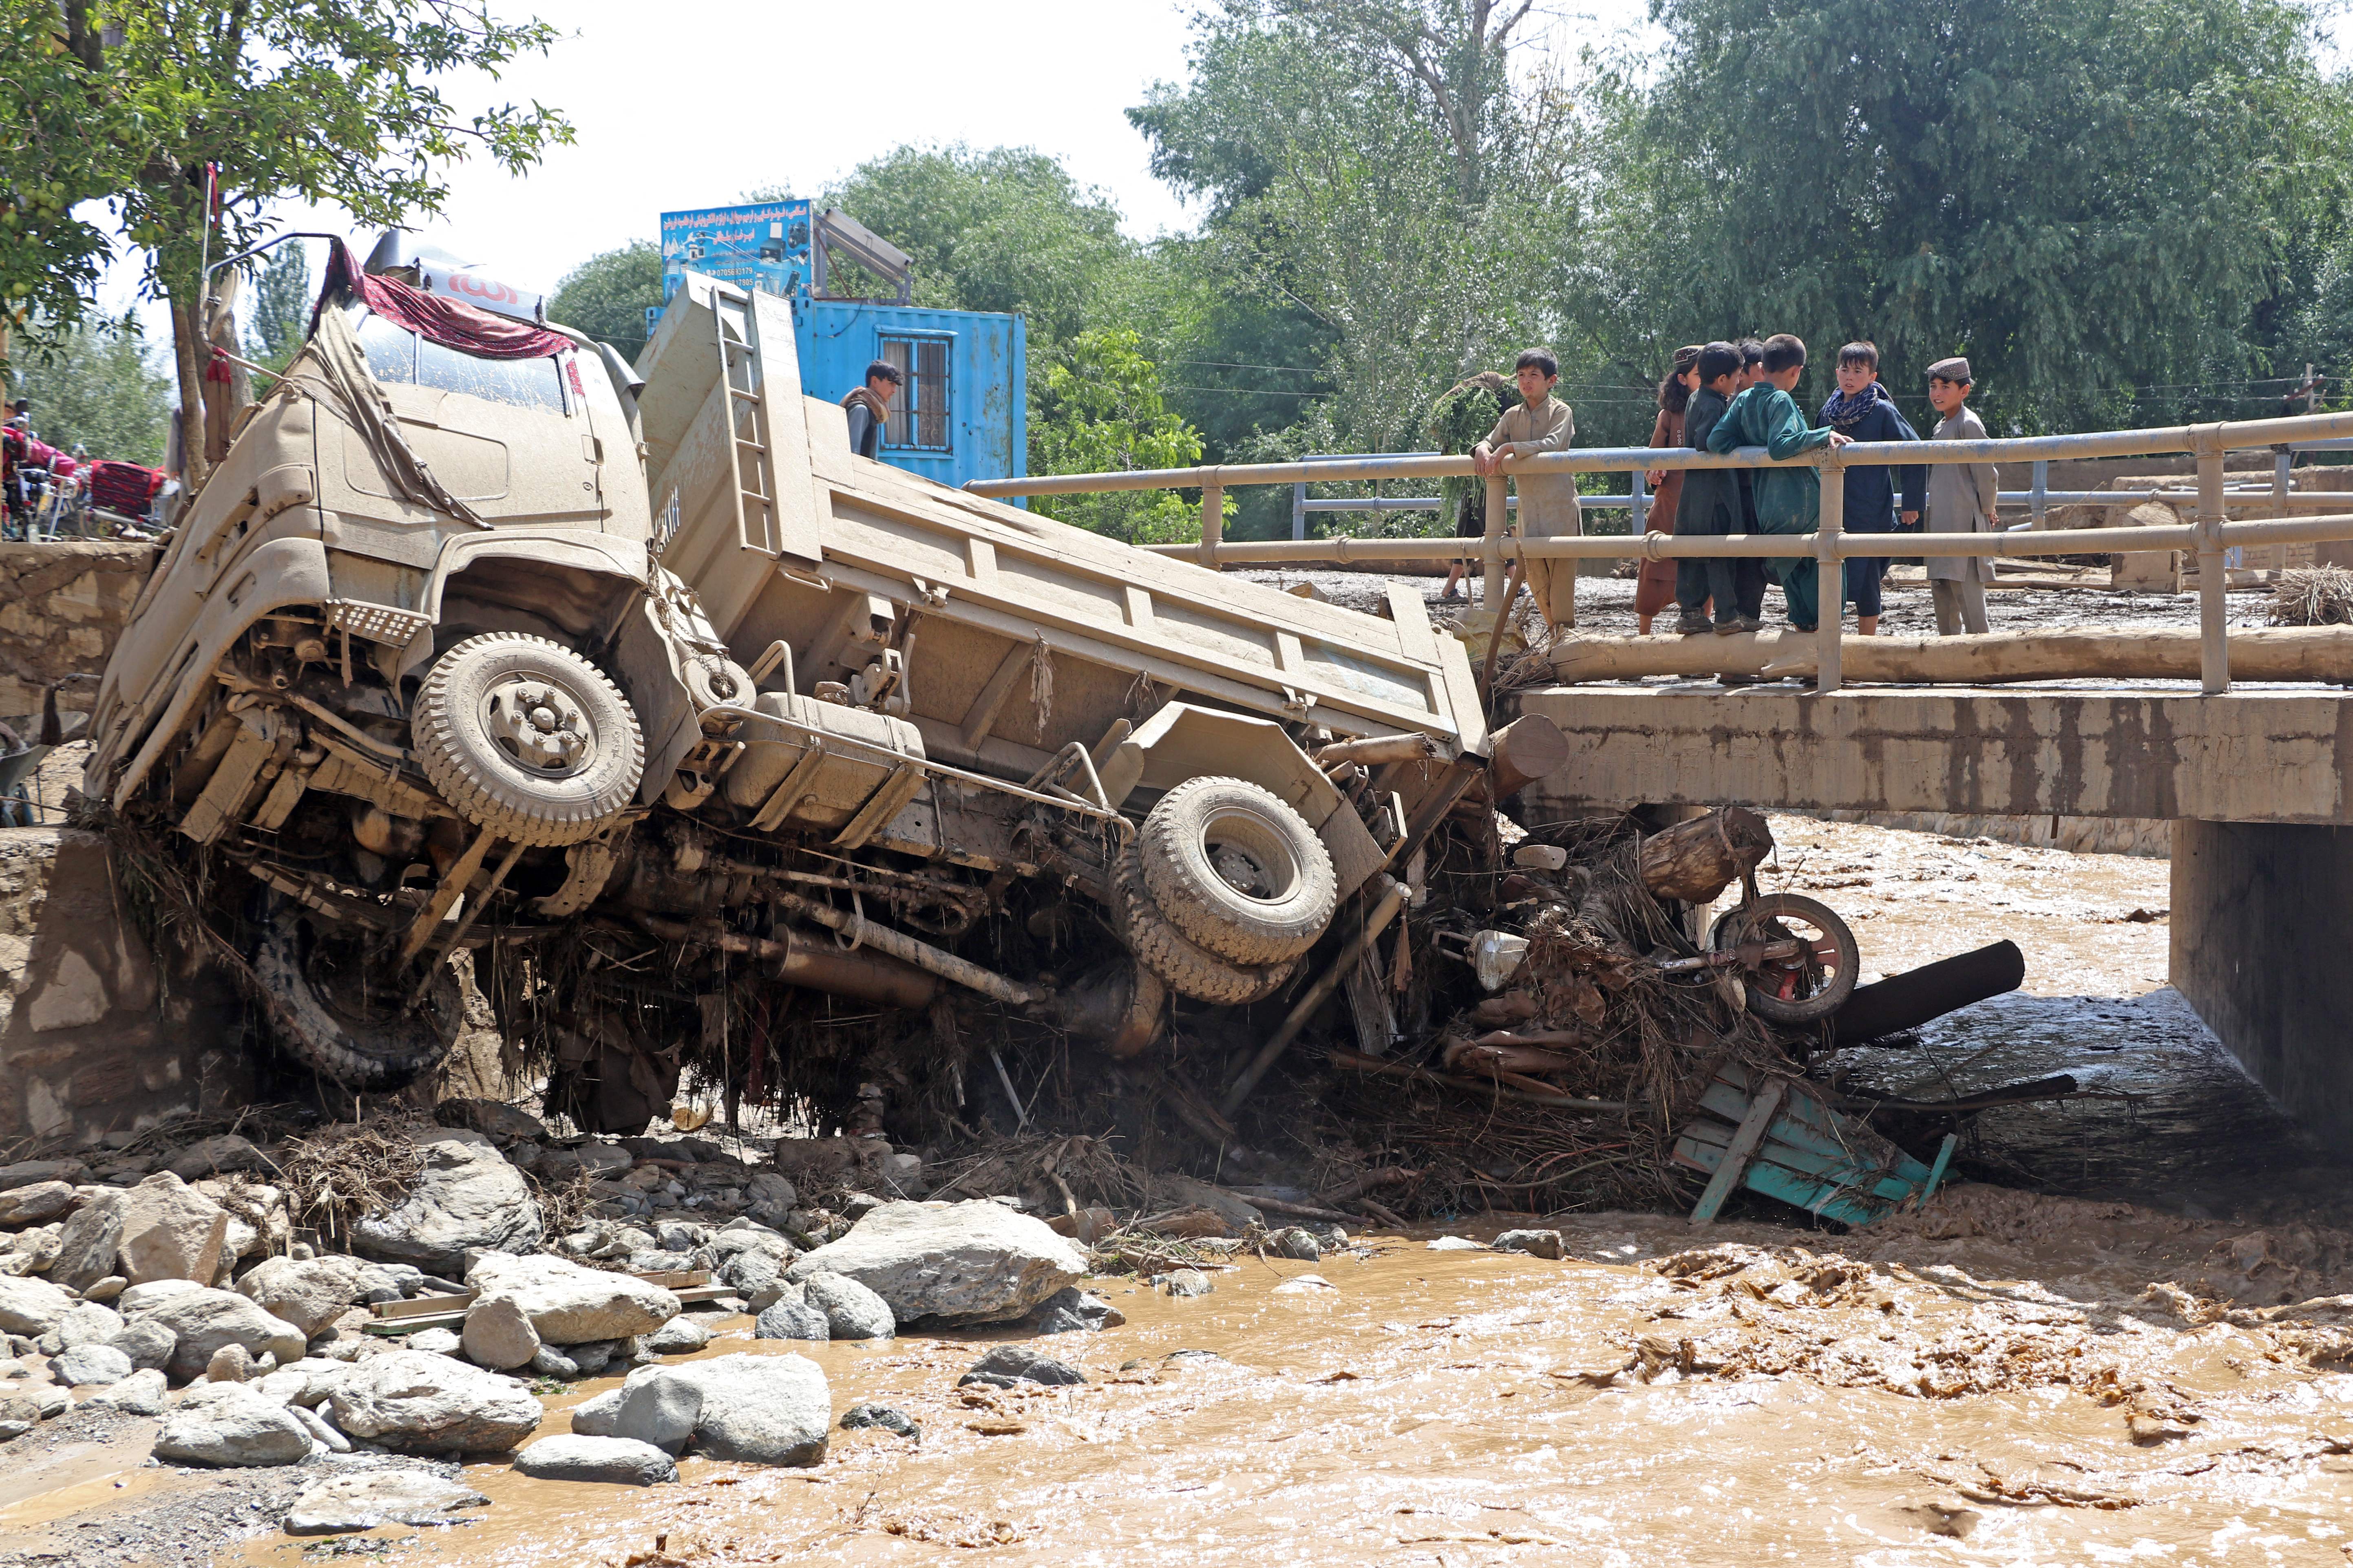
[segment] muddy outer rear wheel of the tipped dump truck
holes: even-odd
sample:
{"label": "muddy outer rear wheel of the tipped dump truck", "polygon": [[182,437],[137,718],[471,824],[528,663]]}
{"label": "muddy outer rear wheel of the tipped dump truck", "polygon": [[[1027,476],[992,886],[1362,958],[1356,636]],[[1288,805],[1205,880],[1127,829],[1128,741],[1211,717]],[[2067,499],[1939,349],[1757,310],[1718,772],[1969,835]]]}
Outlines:
{"label": "muddy outer rear wheel of the tipped dump truck", "polygon": [[1339,905],[1332,853],[1271,790],[1188,778],[1136,835],[1144,889],[1198,947],[1245,966],[1289,964]]}

